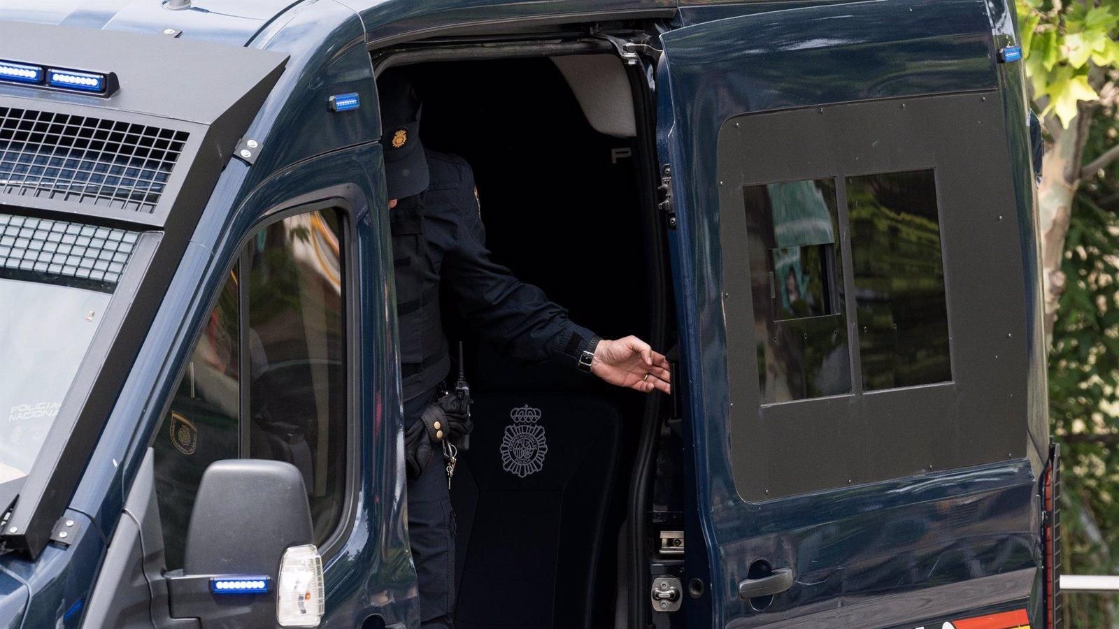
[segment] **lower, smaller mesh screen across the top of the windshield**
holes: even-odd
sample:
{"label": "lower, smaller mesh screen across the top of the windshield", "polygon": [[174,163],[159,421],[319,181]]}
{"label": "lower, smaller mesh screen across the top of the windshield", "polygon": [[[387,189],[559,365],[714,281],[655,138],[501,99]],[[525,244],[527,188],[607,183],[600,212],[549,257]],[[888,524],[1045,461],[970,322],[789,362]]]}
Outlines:
{"label": "lower, smaller mesh screen across the top of the windshield", "polygon": [[138,235],[112,227],[0,214],[0,272],[115,284]]}

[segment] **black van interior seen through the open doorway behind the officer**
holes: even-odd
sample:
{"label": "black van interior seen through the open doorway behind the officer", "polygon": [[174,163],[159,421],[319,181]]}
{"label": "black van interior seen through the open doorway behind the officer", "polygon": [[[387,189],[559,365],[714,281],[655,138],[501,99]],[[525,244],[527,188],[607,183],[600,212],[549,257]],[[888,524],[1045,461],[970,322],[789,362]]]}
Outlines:
{"label": "black van interior seen through the open doorway behind the officer", "polygon": [[[648,94],[630,90],[617,56],[586,57],[420,63],[394,72],[406,72],[424,101],[425,148],[471,165],[493,259],[603,338],[637,335],[665,351],[659,177],[640,115]],[[614,92],[603,85],[611,79]],[[621,82],[627,100],[602,102]],[[636,466],[652,464],[668,398],[605,385],[572,365],[500,356],[459,329],[444,303],[452,347],[464,341],[474,397],[470,449],[451,488],[455,625],[622,626],[630,486]],[[532,433],[546,442],[537,464],[502,458],[525,423],[543,428]],[[648,495],[651,485],[639,482],[637,491]]]}

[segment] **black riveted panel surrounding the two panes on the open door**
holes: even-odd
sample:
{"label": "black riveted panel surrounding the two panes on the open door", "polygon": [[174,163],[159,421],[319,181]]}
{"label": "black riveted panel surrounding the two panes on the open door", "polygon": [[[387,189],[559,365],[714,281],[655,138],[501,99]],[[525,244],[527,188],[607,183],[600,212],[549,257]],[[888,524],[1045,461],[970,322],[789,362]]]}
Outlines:
{"label": "black riveted panel surrounding the two panes on the open door", "polygon": [[[730,453],[746,501],[1026,456],[1023,252],[996,92],[732,116],[717,143]],[[846,179],[932,170],[948,382],[864,391]],[[834,179],[852,393],[760,403],[744,187]]]}

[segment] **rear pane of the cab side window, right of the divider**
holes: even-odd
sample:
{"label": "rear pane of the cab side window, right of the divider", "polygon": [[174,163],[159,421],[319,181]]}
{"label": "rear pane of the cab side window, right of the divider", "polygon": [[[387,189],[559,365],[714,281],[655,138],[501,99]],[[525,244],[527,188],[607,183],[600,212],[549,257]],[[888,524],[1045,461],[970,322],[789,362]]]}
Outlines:
{"label": "rear pane of the cab side window, right of the divider", "polygon": [[303,475],[317,543],[341,515],[346,356],[341,233],[333,210],[273,223],[250,242],[250,451]]}

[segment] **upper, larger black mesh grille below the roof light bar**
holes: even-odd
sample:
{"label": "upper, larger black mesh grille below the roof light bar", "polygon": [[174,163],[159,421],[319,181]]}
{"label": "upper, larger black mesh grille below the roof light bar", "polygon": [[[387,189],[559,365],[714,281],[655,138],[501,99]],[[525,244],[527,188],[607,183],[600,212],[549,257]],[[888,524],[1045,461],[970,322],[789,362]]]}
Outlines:
{"label": "upper, larger black mesh grille below the roof light bar", "polygon": [[189,133],[0,107],[0,191],[151,213]]}

